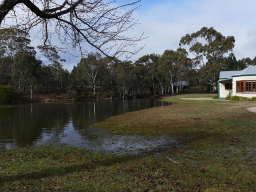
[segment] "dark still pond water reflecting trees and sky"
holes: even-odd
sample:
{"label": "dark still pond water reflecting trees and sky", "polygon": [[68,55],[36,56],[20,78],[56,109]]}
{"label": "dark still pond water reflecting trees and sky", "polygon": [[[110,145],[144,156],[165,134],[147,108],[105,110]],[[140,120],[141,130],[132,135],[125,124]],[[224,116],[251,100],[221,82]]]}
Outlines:
{"label": "dark still pond water reflecting trees and sky", "polygon": [[95,132],[102,133],[88,125],[124,112],[166,105],[170,103],[156,99],[0,105],[0,149],[55,142],[84,146],[97,140]]}

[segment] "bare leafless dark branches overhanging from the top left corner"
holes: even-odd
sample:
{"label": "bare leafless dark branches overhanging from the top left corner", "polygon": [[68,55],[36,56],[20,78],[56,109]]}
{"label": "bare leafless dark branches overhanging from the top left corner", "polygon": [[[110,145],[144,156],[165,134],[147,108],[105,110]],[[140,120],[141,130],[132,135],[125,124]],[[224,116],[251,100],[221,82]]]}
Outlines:
{"label": "bare leafless dark branches overhanging from the top left corner", "polygon": [[[135,37],[126,33],[138,24],[132,14],[140,1],[120,5],[116,0],[2,0],[0,27],[25,32],[40,27],[44,46],[67,53],[78,49],[85,56],[83,46],[89,44],[106,56],[129,57],[143,48],[133,49],[144,39],[143,34]],[[56,36],[60,43],[54,45]]]}

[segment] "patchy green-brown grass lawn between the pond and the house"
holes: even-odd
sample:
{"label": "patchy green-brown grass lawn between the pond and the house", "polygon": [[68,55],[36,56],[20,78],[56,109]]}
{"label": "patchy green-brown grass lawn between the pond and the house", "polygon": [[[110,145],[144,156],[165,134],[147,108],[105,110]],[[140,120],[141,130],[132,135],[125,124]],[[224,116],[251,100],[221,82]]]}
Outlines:
{"label": "patchy green-brown grass lawn between the pond and the house", "polygon": [[[0,151],[0,191],[250,192],[256,190],[256,102],[180,100],[93,126],[113,134],[168,134],[182,145],[146,156],[69,146]],[[180,162],[175,164],[168,158]]]}

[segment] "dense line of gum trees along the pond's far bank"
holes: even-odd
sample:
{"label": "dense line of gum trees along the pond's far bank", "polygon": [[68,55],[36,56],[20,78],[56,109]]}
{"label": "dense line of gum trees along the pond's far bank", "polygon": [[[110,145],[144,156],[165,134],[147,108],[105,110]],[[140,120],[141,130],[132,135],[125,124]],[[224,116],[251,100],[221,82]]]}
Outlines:
{"label": "dense line of gum trees along the pond's far bank", "polygon": [[[256,64],[256,57],[236,60],[232,53],[233,36],[225,37],[206,27],[182,37],[177,50],[165,50],[162,55],[147,54],[135,62],[91,52],[71,73],[63,68],[66,61],[54,47],[37,46],[48,59],[47,65],[36,58],[29,34],[23,31],[1,29],[0,42],[0,85],[28,92],[31,99],[38,90],[81,92],[88,88],[93,95],[106,92],[121,98],[142,97],[145,92],[151,96],[174,94],[183,91],[184,81],[214,92],[220,71],[242,70]],[[189,56],[187,46],[194,57]]]}

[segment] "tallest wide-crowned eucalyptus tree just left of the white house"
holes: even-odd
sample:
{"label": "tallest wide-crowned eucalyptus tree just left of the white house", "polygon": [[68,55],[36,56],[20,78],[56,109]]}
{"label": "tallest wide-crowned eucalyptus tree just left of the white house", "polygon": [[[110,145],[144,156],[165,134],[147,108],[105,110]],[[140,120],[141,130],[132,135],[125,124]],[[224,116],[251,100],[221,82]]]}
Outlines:
{"label": "tallest wide-crowned eucalyptus tree just left of the white house", "polygon": [[183,36],[180,40],[180,46],[190,46],[189,51],[195,56],[194,61],[197,67],[199,67],[199,70],[203,66],[209,65],[207,66],[207,70],[200,70],[200,74],[205,73],[202,74],[202,76],[205,77],[203,81],[212,87],[212,91],[215,91],[217,88],[216,83],[218,81],[218,75],[208,76],[207,73],[210,72],[210,68],[217,70],[216,74],[220,72],[225,66],[224,58],[226,58],[234,48],[234,42],[234,36],[225,37],[213,27],[203,27],[195,33]]}

